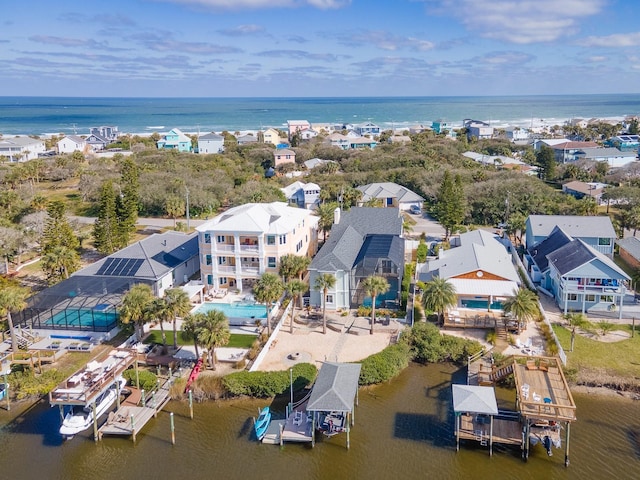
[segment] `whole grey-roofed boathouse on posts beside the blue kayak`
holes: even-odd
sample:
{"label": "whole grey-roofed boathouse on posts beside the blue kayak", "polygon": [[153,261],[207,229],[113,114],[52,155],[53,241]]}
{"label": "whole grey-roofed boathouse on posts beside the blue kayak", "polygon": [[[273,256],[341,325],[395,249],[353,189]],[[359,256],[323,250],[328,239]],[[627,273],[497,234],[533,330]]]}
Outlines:
{"label": "whole grey-roofed boathouse on posts beside the blue kayak", "polygon": [[[347,434],[347,449],[349,422],[351,426],[355,423],[360,367],[359,363],[323,363],[307,404],[307,411],[313,413],[314,425],[325,435]],[[315,428],[313,435],[315,443]]]}

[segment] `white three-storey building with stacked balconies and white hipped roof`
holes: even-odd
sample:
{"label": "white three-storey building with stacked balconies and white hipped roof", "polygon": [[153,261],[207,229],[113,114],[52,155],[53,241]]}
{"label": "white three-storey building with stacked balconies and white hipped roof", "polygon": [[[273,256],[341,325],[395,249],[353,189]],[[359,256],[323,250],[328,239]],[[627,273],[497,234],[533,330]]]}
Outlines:
{"label": "white three-storey building with stacked balconies and white hipped roof", "polygon": [[318,243],[318,217],[284,202],[233,207],[197,230],[209,290],[250,289],[263,273],[277,273],[284,255],[312,256]]}

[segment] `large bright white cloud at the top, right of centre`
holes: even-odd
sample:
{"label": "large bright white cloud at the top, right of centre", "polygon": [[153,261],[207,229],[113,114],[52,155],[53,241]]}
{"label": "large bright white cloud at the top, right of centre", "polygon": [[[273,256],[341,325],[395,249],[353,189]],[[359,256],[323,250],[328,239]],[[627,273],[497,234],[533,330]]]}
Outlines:
{"label": "large bright white cloud at the top, right of centre", "polygon": [[432,0],[479,35],[511,43],[551,42],[573,35],[578,21],[600,13],[605,0]]}

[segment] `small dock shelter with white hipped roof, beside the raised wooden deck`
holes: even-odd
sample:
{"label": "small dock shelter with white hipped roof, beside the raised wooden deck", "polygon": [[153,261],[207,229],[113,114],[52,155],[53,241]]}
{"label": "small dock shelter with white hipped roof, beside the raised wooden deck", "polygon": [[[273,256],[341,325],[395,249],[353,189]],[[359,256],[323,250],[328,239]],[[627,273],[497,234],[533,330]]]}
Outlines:
{"label": "small dock shelter with white hipped roof, beside the raised wooden deck", "polygon": [[[460,449],[460,437],[489,443],[489,455],[493,454],[493,417],[498,415],[498,402],[493,387],[476,385],[452,385],[453,411],[456,415],[456,450]],[[489,426],[487,432],[486,426]]]}

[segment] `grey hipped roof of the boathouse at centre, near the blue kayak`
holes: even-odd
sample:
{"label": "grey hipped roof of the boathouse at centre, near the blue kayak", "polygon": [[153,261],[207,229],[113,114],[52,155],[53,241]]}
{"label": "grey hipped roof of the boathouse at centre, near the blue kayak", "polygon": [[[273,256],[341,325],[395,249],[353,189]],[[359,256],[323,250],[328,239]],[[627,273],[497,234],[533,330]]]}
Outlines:
{"label": "grey hipped roof of the boathouse at centre, near the blue kayak", "polygon": [[352,412],[358,391],[360,368],[359,363],[323,363],[313,385],[307,410]]}

